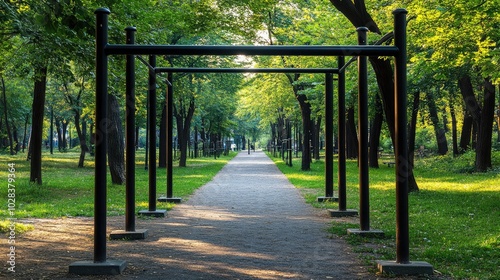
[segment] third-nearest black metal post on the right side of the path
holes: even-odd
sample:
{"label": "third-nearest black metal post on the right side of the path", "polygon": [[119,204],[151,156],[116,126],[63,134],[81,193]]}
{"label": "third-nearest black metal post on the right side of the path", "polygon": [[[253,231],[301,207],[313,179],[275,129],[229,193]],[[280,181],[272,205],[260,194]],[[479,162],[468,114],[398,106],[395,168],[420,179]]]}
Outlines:
{"label": "third-nearest black metal post on the right side of the path", "polygon": [[[345,57],[338,57],[338,68],[342,69],[345,65]],[[338,75],[338,113],[339,113],[339,140],[338,140],[338,184],[339,184],[339,211],[345,211],[347,208],[346,194],[346,160],[345,160],[345,70]]]}

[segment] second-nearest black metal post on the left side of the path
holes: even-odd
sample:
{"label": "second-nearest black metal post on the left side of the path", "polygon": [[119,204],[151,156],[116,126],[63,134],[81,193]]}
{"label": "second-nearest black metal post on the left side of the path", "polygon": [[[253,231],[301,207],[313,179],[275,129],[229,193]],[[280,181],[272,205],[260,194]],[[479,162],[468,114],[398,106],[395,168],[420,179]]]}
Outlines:
{"label": "second-nearest black metal post on the left side of the path", "polygon": [[[135,27],[125,28],[127,44],[135,44]],[[126,137],[127,178],[125,198],[125,230],[135,231],[135,56],[127,55],[126,66]]]}

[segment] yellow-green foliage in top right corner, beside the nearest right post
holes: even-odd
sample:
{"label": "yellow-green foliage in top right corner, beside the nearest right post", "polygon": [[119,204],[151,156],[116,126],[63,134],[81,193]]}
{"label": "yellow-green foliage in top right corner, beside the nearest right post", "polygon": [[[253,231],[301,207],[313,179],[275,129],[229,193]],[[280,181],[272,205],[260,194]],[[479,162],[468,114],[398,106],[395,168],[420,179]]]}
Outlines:
{"label": "yellow-green foliage in top right corner, beside the nearest right post", "polygon": [[[412,1],[410,22],[412,62],[425,71],[446,74],[456,69],[480,69],[483,77],[499,82],[500,33],[495,1]],[[470,70],[469,70],[470,69]]]}

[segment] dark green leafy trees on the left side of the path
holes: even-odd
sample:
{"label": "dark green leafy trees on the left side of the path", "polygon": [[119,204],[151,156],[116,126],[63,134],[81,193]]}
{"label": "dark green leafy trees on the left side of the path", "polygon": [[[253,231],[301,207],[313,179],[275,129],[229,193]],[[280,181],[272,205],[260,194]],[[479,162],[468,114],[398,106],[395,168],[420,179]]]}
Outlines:
{"label": "dark green leafy trees on the left side of the path", "polygon": [[[218,3],[217,3],[218,2]],[[258,22],[247,15],[247,6],[239,1],[94,1],[43,0],[2,1],[0,36],[0,80],[2,81],[2,149],[17,153],[29,145],[30,179],[42,183],[41,152],[55,124],[58,135],[66,135],[70,125],[76,128],[81,148],[79,166],[89,151],[94,126],[94,11],[108,7],[112,12],[110,41],[124,42],[123,29],[136,26],[140,44],[231,44],[249,43],[255,37]],[[259,5],[257,5],[259,6]],[[227,11],[230,10],[230,13]],[[246,17],[254,25],[238,21]],[[161,66],[228,67],[230,58],[161,57]],[[124,59],[110,62],[110,112],[123,118]],[[146,127],[147,68],[138,81],[138,126]],[[140,75],[138,75],[140,76]],[[236,110],[235,92],[242,76],[175,75],[175,110],[179,146],[184,151],[186,131],[191,127],[201,137],[228,135]],[[159,83],[161,92],[166,85]],[[159,97],[163,98],[164,95]],[[195,101],[196,100],[196,101]],[[117,102],[114,102],[117,101]],[[158,112],[164,102],[158,102]],[[53,118],[52,118],[53,116]],[[161,114],[158,114],[158,119]],[[110,119],[114,119],[110,116]],[[157,123],[160,123],[158,121]],[[60,128],[59,128],[60,127]],[[244,128],[243,126],[241,128]],[[118,130],[118,132],[120,132]],[[244,131],[238,131],[244,133]],[[50,134],[50,136],[49,136]],[[116,134],[112,134],[115,136]],[[118,134],[120,135],[120,134]],[[25,138],[22,140],[22,138]],[[50,139],[49,138],[49,139]],[[186,139],[187,138],[187,139]],[[121,143],[123,138],[114,140]],[[61,139],[60,144],[65,141]],[[28,144],[29,143],[29,144]],[[116,147],[117,145],[112,145]],[[119,145],[118,145],[119,146]],[[62,145],[60,145],[62,147]],[[182,162],[184,159],[184,163]],[[185,156],[181,164],[185,164]]]}

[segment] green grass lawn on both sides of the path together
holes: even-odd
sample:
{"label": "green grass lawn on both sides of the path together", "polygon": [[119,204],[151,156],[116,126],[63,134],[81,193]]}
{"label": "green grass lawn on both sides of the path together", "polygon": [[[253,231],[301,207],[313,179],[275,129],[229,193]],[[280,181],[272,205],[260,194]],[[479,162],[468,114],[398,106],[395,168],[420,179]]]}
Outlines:
{"label": "green grass lawn on both sides of the path together", "polygon": [[[189,159],[188,167],[174,168],[174,196],[187,198],[232,158],[235,153],[217,160]],[[78,153],[43,155],[43,185],[29,183],[29,162],[25,155],[0,156],[0,196],[7,202],[8,164],[15,163],[16,218],[56,218],[93,215],[93,158],[84,168],[77,168]],[[410,258],[427,261],[446,276],[456,279],[499,279],[500,268],[500,153],[494,154],[494,166],[488,173],[471,173],[473,155],[460,159],[449,156],[420,159],[415,176],[420,192],[411,193]],[[148,207],[148,171],[144,154],[138,152],[136,168],[136,210]],[[280,159],[276,164],[315,207],[337,209],[333,202],[317,203],[324,195],[324,162],[315,161],[311,171],[300,171],[300,160],[288,167]],[[382,162],[382,160],[381,160]],[[336,165],[335,165],[336,166]],[[464,173],[465,172],[465,173]],[[468,173],[466,173],[468,172]],[[157,196],[166,192],[166,170],[157,170]],[[334,176],[336,178],[336,175]],[[109,179],[110,180],[110,179]],[[332,221],[330,231],[346,238],[355,251],[370,263],[375,259],[395,259],[395,171],[381,165],[370,169],[371,227],[383,230],[383,239],[347,236],[347,228],[359,224]],[[347,162],[347,207],[359,209],[358,169],[356,161]],[[8,228],[7,203],[0,209],[0,231]],[[108,184],[108,214],[122,215],[125,187]],[[158,209],[173,204],[158,203]],[[16,230],[30,230],[17,224]],[[369,244],[369,246],[367,245]]]}

